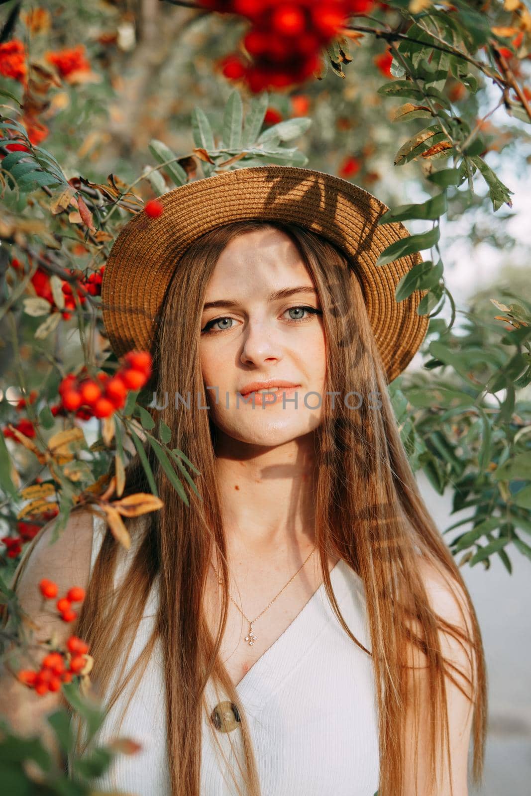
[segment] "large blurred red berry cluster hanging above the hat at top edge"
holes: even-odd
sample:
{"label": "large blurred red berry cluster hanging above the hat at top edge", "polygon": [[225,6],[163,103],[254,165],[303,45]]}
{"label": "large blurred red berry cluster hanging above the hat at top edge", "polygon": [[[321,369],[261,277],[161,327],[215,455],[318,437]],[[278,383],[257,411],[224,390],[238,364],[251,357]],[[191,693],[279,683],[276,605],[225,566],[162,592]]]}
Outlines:
{"label": "large blurred red berry cluster hanging above the hat at top edge", "polygon": [[200,0],[213,11],[240,14],[251,22],[244,47],[226,57],[224,75],[245,80],[252,92],[302,83],[319,66],[322,49],[337,37],[351,15],[367,14],[374,0]]}

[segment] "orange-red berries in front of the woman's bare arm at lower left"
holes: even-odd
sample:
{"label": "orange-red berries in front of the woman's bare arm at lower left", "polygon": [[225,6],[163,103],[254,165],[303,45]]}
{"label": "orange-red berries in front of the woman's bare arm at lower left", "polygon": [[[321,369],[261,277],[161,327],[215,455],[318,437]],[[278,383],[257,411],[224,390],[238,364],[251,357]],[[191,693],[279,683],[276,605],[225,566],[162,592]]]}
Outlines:
{"label": "orange-red berries in front of the woman's bare arm at lower left", "polygon": [[[57,583],[44,578],[39,583],[39,590],[45,599],[55,599],[59,591]],[[72,622],[76,611],[72,610],[72,603],[82,603],[85,591],[80,586],[72,586],[65,597],[57,600],[57,609],[64,622]],[[77,636],[70,636],[66,642],[66,650],[49,652],[41,661],[41,669],[21,669],[18,681],[34,689],[39,696],[44,696],[49,691],[60,691],[62,683],[72,682],[72,677],[80,674],[87,665],[88,644]]]}

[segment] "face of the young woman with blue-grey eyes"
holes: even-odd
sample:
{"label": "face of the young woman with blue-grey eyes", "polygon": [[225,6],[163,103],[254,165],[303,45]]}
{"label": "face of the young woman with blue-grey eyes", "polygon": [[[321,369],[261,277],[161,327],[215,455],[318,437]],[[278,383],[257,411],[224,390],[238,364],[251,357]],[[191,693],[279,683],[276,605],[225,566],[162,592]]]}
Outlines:
{"label": "face of the young woman with blue-grey eyes", "polygon": [[[205,295],[200,354],[210,416],[228,437],[275,446],[318,427],[326,377],[321,306],[283,232],[245,232],[221,252]],[[245,394],[264,381],[295,387],[280,387],[276,400]]]}

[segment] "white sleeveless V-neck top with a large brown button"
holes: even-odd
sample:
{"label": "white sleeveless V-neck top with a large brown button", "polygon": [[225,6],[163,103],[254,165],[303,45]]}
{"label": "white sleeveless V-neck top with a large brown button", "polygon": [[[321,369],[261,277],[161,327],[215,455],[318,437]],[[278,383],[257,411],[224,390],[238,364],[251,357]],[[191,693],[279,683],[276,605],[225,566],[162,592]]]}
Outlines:
{"label": "white sleeveless V-neck top with a large brown button", "polygon": [[[91,572],[105,530],[105,521],[95,518]],[[135,546],[134,540],[127,552],[129,560]],[[127,556],[119,560],[115,583],[123,576]],[[349,629],[370,650],[361,579],[343,560],[334,566],[330,579]],[[156,583],[155,579],[155,587]],[[154,588],[146,602],[128,666],[150,637],[156,609]],[[95,782],[102,790],[115,788],[137,796],[170,796],[162,666],[157,640],[119,732],[115,722],[121,716],[128,689],[119,696],[100,728],[98,743],[120,736],[143,744],[135,755],[116,756],[107,774]],[[111,687],[112,683],[107,696]],[[375,794],[379,762],[372,659],[340,626],[326,598],[324,584],[252,665],[237,692],[248,716],[262,796]],[[228,739],[230,735],[236,748],[243,748],[240,724],[231,732],[213,728],[209,716],[227,696],[217,695],[212,681],[205,696],[209,710],[203,719],[201,796],[234,796],[236,787],[213,736],[221,743],[236,776],[240,776]]]}

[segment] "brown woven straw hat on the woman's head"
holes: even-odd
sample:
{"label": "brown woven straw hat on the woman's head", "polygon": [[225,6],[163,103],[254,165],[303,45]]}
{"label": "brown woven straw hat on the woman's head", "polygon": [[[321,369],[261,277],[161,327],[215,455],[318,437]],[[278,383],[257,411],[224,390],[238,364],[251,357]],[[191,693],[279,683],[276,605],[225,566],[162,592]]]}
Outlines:
{"label": "brown woven straw hat on the woman's head", "polygon": [[295,166],[256,166],[189,182],[162,194],[163,213],[137,213],[119,232],[102,284],[103,322],[118,356],[150,349],[154,323],[178,259],[197,237],[244,219],[300,224],[332,241],[353,261],[388,381],[408,365],[428,329],[416,314],[426,291],[396,302],[400,279],[419,252],[376,266],[389,245],[408,236],[400,222],[377,226],[388,207],[357,185]]}

